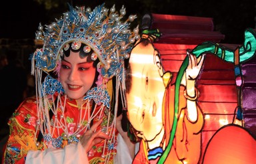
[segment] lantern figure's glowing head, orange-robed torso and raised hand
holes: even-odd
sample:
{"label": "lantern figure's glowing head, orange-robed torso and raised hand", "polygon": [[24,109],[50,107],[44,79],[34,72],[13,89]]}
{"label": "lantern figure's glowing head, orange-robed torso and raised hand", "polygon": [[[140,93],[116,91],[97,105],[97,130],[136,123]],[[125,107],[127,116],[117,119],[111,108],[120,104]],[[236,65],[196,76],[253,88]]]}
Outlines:
{"label": "lantern figure's glowing head, orange-robed torso and raised hand", "polygon": [[[204,56],[197,60],[193,54],[188,54],[188,58],[189,65],[178,88],[179,100],[175,100],[171,72],[163,70],[159,53],[151,39],[143,35],[131,51],[127,111],[135,135],[141,138],[133,163],[199,161],[203,114],[195,101],[199,96],[195,79]],[[175,101],[179,103],[177,113]]]}

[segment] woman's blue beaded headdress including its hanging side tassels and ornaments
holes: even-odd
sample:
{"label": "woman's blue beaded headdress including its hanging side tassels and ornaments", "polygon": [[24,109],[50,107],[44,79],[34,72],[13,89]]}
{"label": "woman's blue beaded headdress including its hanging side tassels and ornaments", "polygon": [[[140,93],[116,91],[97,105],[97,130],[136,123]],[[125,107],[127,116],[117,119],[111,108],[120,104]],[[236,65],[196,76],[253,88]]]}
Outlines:
{"label": "woman's blue beaded headdress including its hanging side tassels and ornaments", "polygon": [[[57,107],[49,110],[49,102],[45,101],[45,98],[65,91],[61,83],[52,78],[49,72],[57,69],[61,56],[63,56],[63,50],[69,46],[73,50],[78,50],[85,44],[82,50],[86,52],[92,49],[95,53],[91,54],[91,59],[99,58],[97,64],[97,68],[100,70],[99,76],[107,80],[113,76],[116,77],[115,94],[117,94],[120,88],[125,87],[125,84],[122,84],[125,82],[124,60],[129,58],[133,43],[139,39],[139,28],[135,27],[133,31],[129,29],[130,22],[136,16],[130,15],[126,21],[122,22],[121,19],[125,13],[124,7],[121,8],[120,13],[115,11],[115,5],[111,7],[110,11],[104,7],[104,4],[95,7],[93,11],[90,8],[69,6],[69,11],[64,13],[63,17],[46,25],[45,29],[41,24],[39,25],[36,39],[43,41],[43,48],[37,49],[33,54],[31,72],[35,74],[37,83],[37,96],[39,96],[37,112],[40,130],[43,137],[52,143],[54,143],[53,140],[58,142],[58,139],[49,136],[47,133],[49,129],[43,129],[43,124],[49,123],[51,120],[49,111],[52,110],[54,113]],[[42,72],[47,74],[45,79],[42,79]],[[105,86],[101,84],[92,88],[84,99],[93,99],[96,104],[100,102],[109,108],[111,98]],[[115,108],[117,108],[116,105]]]}

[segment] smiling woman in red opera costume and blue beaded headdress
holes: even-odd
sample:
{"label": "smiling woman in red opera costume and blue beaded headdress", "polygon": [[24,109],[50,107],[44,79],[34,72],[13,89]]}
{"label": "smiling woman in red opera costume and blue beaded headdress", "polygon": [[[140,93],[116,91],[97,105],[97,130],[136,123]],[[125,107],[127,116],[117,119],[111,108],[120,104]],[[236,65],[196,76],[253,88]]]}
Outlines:
{"label": "smiling woman in red opera costume and blue beaded headdress", "polygon": [[134,145],[117,102],[125,106],[124,60],[139,35],[129,30],[136,16],[121,21],[124,15],[115,5],[69,6],[39,25],[43,48],[31,56],[37,95],[10,118],[3,163],[131,163]]}

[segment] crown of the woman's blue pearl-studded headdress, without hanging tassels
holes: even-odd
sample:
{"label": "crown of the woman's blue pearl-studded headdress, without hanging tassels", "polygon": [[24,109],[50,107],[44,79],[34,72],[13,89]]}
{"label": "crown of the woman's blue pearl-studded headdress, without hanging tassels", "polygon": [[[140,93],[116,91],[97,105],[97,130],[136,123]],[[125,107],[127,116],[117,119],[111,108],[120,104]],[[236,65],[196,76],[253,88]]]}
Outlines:
{"label": "crown of the woman's blue pearl-studded headdress, without hanging tassels", "polygon": [[34,54],[35,66],[45,72],[55,69],[57,60],[63,55],[63,46],[69,42],[83,42],[96,52],[101,62],[101,74],[111,78],[121,71],[123,60],[129,58],[129,52],[135,39],[138,39],[138,27],[129,29],[129,22],[136,16],[130,15],[127,21],[121,22],[125,8],[120,14],[115,11],[115,5],[106,9],[103,5],[93,11],[85,7],[73,8],[57,19],[51,25],[39,25],[36,39],[43,41],[43,49]]}

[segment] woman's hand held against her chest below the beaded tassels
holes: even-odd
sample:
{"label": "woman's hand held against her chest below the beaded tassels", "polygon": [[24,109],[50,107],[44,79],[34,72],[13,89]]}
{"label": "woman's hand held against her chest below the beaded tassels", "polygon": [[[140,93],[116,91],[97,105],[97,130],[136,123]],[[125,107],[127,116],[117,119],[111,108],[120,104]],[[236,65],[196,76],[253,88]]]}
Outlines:
{"label": "woman's hand held against her chest below the beaded tassels", "polygon": [[80,139],[80,142],[83,148],[85,148],[86,153],[93,147],[93,145],[100,143],[104,139],[110,139],[109,135],[106,133],[103,133],[102,131],[95,131],[101,122],[102,120],[99,120],[99,122],[93,124],[91,129],[87,130],[83,137]]}

